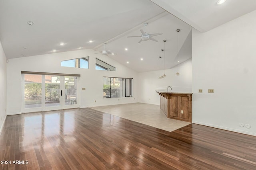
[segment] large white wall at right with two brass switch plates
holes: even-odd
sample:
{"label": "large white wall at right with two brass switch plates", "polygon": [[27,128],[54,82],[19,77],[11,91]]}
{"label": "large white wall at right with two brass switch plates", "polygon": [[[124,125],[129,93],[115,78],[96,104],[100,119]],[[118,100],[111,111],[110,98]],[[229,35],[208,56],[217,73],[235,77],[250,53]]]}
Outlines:
{"label": "large white wall at right with two brass switch plates", "polygon": [[193,29],[192,122],[256,135],[255,37],[256,11],[206,33]]}

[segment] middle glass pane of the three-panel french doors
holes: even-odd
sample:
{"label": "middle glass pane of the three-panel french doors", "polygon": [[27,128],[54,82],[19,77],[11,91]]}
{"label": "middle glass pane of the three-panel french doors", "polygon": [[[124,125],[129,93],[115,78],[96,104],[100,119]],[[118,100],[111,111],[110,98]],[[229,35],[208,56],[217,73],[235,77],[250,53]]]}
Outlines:
{"label": "middle glass pane of the three-panel french doors", "polygon": [[60,106],[60,76],[45,75],[45,106]]}

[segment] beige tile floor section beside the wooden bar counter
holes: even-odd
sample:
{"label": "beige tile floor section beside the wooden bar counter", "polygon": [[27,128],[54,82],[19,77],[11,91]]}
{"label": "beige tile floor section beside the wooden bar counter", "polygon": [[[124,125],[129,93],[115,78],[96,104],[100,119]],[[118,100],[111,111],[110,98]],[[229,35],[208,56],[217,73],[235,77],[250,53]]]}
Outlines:
{"label": "beige tile floor section beside the wooden bar counter", "polygon": [[134,103],[90,108],[170,132],[190,124],[168,119],[160,106],[153,104]]}

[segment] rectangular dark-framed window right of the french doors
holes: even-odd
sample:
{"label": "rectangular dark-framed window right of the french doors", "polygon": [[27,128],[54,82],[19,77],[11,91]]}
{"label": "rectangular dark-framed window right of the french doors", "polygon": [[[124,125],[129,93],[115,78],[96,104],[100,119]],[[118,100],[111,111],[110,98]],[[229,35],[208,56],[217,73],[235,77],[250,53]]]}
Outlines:
{"label": "rectangular dark-framed window right of the french doors", "polygon": [[103,97],[119,98],[132,96],[132,78],[103,78]]}

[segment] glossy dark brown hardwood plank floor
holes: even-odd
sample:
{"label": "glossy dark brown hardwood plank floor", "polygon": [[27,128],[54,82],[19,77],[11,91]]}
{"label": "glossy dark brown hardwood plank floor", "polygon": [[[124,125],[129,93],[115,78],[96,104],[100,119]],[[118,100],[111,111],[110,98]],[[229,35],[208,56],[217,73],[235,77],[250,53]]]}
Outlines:
{"label": "glossy dark brown hardwood plank floor", "polygon": [[0,160],[11,161],[0,169],[24,170],[255,170],[256,137],[196,124],[168,132],[90,108],[67,109],[8,116]]}

